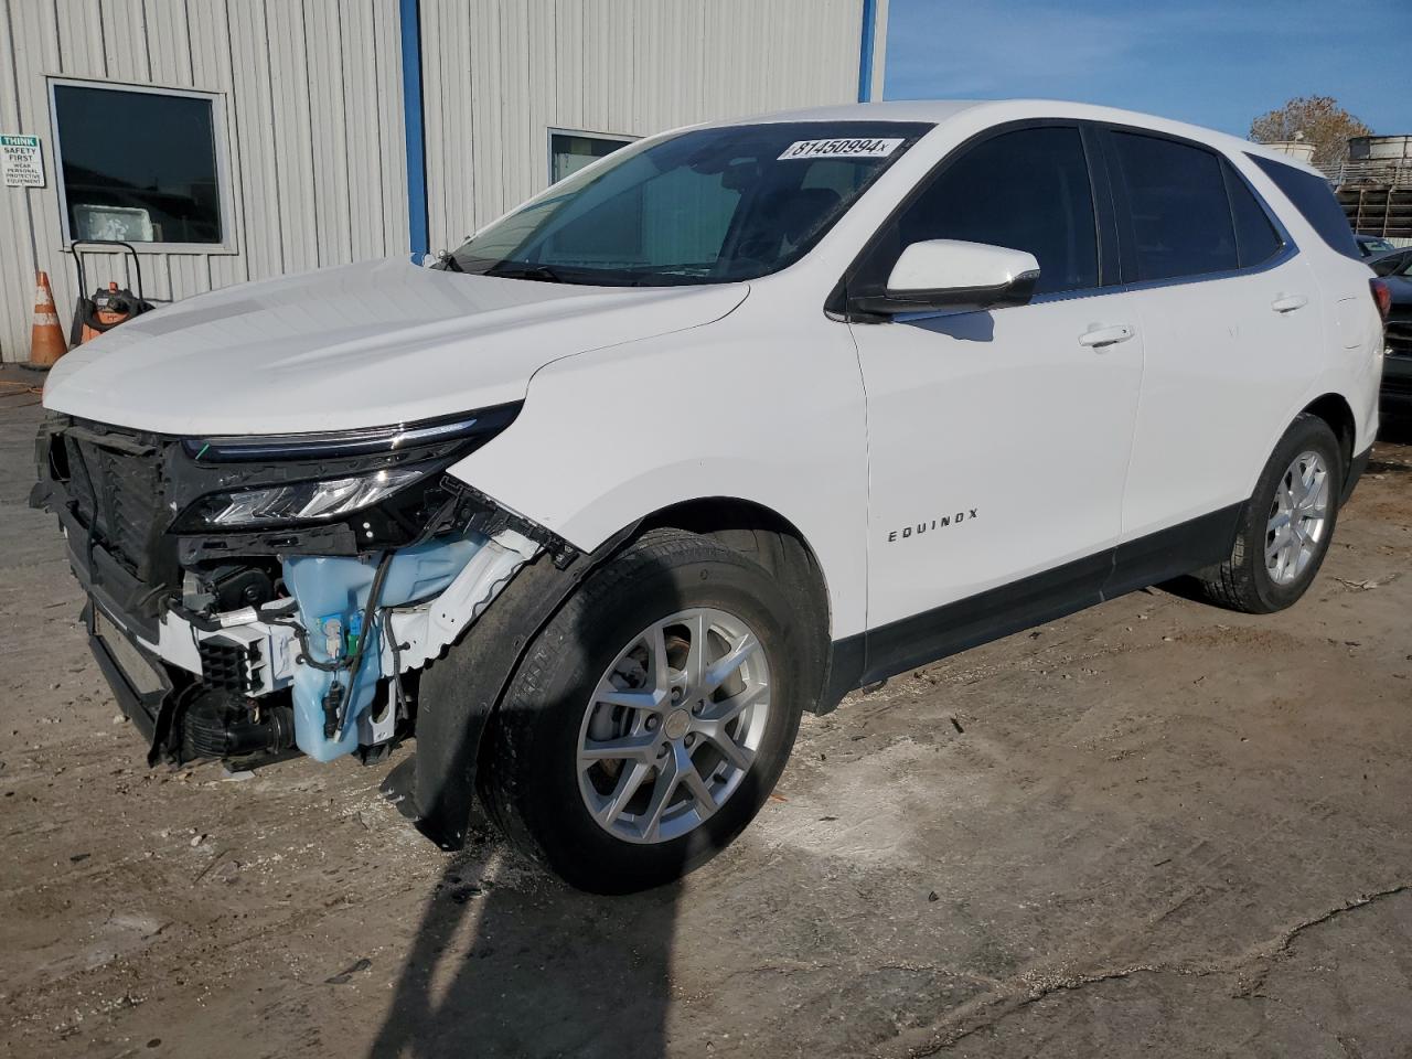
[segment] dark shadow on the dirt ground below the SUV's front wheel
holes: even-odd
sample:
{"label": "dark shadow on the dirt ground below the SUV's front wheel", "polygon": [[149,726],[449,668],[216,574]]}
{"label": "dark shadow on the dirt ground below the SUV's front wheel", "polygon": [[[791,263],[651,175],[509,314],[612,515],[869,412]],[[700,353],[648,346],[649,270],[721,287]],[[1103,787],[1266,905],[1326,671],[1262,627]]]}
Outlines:
{"label": "dark shadow on the dirt ground below the SUV's front wheel", "polygon": [[[576,635],[589,642],[589,630]],[[415,813],[411,777],[408,758],[384,781],[404,815]],[[681,884],[627,897],[572,890],[477,805],[466,847],[428,895],[369,1059],[664,1055],[679,894]]]}

